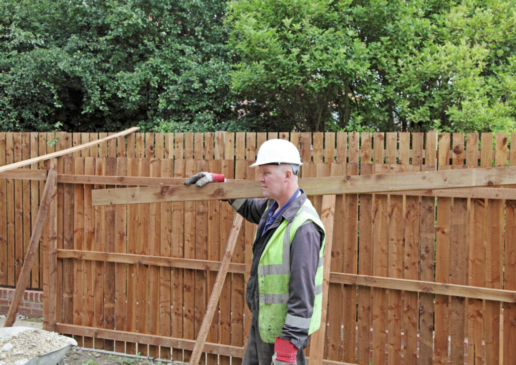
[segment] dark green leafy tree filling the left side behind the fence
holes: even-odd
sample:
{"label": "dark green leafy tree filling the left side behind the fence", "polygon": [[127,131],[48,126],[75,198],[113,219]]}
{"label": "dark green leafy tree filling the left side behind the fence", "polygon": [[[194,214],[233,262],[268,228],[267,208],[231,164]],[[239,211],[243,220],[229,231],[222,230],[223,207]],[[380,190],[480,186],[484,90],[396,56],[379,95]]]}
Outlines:
{"label": "dark green leafy tree filling the left side behind the fence", "polygon": [[227,129],[218,0],[4,0],[2,130]]}

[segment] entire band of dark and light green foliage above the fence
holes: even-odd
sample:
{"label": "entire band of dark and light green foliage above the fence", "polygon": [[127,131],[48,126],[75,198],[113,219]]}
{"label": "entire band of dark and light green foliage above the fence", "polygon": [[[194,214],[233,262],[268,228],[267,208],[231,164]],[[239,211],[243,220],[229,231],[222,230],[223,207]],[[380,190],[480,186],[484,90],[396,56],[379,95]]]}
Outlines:
{"label": "entire band of dark and light green foliage above the fence", "polygon": [[0,129],[514,131],[509,0],[4,0]]}

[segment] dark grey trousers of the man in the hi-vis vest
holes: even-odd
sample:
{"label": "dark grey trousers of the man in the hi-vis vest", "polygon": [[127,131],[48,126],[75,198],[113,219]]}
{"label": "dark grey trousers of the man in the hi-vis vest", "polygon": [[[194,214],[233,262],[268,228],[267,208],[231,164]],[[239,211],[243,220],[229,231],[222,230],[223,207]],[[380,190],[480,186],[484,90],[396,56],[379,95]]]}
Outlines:
{"label": "dark grey trousers of the man in the hi-vis vest", "polygon": [[[305,342],[304,347],[307,347],[310,337]],[[306,358],[304,357],[303,348],[297,352],[297,364],[305,365]],[[251,329],[249,330],[249,339],[247,340],[246,352],[242,365],[270,365],[272,362],[272,355],[274,355],[274,344],[263,342],[260,337],[260,329],[258,328],[258,320],[253,315],[251,319]]]}

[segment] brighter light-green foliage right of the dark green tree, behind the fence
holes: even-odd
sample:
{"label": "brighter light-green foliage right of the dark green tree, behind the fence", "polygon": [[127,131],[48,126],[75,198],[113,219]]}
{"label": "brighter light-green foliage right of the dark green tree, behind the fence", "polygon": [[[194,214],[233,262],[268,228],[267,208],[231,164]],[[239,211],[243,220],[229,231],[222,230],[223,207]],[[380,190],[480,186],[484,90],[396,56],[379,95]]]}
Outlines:
{"label": "brighter light-green foliage right of the dark green tree, behind the fence", "polygon": [[233,0],[227,19],[232,87],[267,125],[514,130],[510,1]]}

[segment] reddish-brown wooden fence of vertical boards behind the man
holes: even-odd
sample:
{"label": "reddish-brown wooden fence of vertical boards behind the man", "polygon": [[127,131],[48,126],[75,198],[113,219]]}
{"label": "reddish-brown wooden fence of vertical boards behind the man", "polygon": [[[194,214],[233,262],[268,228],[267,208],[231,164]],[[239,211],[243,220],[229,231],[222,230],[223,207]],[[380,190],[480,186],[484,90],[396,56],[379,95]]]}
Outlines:
{"label": "reddish-brown wooden fence of vertical boards behind the man", "polygon": [[[0,166],[103,136],[0,133]],[[58,183],[54,226],[42,238],[57,250],[39,252],[30,280],[55,287],[55,329],[86,347],[188,361],[231,229],[229,204],[93,207],[92,189],[125,186],[85,184],[77,175],[184,178],[209,170],[254,180],[257,148],[278,137],[299,147],[303,178],[516,166],[508,136],[491,133],[135,133],[59,157],[58,182],[68,179]],[[2,285],[17,281],[43,185],[0,179]],[[448,195],[336,197],[326,363],[516,358],[516,200]],[[322,197],[311,199],[320,209]],[[245,223],[240,231],[204,362],[243,356],[254,229]],[[52,282],[42,275],[45,260],[55,265]]]}

